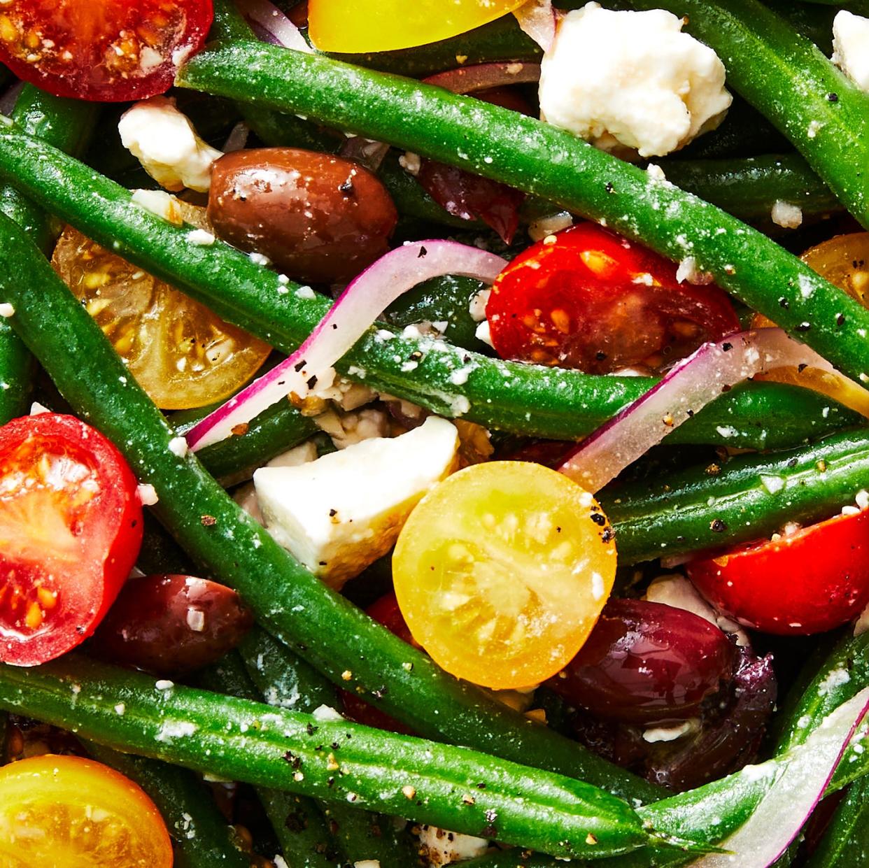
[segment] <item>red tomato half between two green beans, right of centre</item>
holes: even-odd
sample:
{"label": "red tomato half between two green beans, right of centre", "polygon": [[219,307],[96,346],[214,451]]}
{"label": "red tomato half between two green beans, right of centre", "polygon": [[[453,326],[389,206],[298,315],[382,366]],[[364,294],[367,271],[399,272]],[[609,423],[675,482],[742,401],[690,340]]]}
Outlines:
{"label": "red tomato half between two green beans, right of centre", "polygon": [[739,331],[728,296],[595,223],[528,248],[495,279],[486,316],[504,359],[589,374],[660,368]]}

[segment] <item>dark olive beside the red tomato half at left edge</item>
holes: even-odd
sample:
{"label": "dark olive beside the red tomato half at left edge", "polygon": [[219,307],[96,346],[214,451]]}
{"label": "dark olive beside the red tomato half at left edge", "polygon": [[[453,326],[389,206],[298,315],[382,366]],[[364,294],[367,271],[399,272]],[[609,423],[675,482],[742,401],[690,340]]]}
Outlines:
{"label": "dark olive beside the red tomato half at left edge", "polygon": [[90,650],[155,675],[181,675],[220,659],[251,624],[229,587],[193,576],[142,576],[123,586]]}

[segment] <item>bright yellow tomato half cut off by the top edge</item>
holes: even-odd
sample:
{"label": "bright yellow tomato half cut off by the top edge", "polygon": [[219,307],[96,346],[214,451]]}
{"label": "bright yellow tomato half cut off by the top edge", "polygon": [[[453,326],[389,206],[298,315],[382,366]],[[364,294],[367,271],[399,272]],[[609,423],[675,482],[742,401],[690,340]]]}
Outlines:
{"label": "bright yellow tomato half cut off by the top edge", "polygon": [[321,51],[412,48],[474,30],[527,0],[308,0],[311,42]]}

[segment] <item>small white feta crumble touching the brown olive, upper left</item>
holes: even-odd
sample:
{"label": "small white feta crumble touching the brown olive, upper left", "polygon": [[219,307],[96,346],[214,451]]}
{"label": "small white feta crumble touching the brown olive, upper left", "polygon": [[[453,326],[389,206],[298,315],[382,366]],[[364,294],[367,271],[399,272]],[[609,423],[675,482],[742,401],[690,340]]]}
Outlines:
{"label": "small white feta crumble touching the brown olive, upper left", "polygon": [[189,118],[169,96],[152,96],[136,103],[117,126],[124,148],[162,187],[185,187],[204,193],[211,185],[211,164],[222,152],[196,135]]}

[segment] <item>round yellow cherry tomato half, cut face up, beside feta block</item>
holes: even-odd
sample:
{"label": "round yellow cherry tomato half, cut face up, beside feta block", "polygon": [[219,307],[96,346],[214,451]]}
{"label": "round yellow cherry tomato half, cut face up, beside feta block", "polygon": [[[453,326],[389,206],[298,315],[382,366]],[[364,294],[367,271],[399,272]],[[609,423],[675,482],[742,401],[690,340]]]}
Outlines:
{"label": "round yellow cherry tomato half, cut face up, beside feta block", "polygon": [[591,494],[540,464],[491,461],[420,501],[392,566],[401,614],[434,661],[508,689],[574,658],[612,590],[615,560]]}

